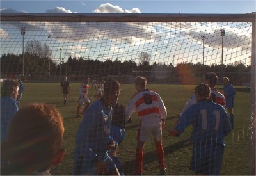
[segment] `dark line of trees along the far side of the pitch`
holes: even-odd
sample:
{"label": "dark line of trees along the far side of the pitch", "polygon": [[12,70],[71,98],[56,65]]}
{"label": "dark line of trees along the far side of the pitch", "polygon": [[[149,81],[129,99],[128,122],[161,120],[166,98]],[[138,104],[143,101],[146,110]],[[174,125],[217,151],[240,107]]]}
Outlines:
{"label": "dark line of trees along the far side of the pitch", "polygon": [[[143,76],[199,76],[202,72],[225,72],[225,76],[236,77],[241,74],[250,73],[250,65],[246,66],[241,62],[228,65],[203,65],[202,63],[177,63],[173,67],[172,63],[156,63],[151,61],[151,56],[147,52],[141,52],[138,56],[139,63],[134,60],[94,60],[90,58],[76,58],[70,56],[67,61],[62,60],[56,63],[49,59],[52,51],[47,44],[38,41],[30,41],[26,44],[24,52],[24,75],[51,75],[63,76],[106,76],[106,75],[143,75]],[[1,60],[1,74],[22,74],[23,55],[3,54]],[[151,64],[150,64],[151,63]],[[248,75],[248,74],[247,74]]]}

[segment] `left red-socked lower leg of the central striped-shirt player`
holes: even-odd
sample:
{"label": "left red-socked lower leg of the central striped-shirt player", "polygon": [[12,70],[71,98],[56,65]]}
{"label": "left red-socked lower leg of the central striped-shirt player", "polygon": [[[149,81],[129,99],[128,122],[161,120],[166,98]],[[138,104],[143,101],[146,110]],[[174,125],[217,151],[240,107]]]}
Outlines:
{"label": "left red-socked lower leg of the central striped-shirt player", "polygon": [[137,140],[137,146],[136,146],[136,171],[134,172],[134,175],[141,175],[143,172],[143,148],[144,148],[145,142]]}

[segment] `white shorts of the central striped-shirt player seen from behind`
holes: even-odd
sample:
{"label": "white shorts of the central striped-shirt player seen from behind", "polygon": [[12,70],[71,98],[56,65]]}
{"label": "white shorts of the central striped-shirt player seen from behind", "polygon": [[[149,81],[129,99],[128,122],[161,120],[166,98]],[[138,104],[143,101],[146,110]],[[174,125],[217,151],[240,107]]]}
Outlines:
{"label": "white shorts of the central striped-shirt player seen from behind", "polygon": [[156,123],[153,125],[143,125],[143,121],[140,123],[137,140],[147,142],[151,138],[156,139],[157,141],[162,138],[162,127],[161,123]]}

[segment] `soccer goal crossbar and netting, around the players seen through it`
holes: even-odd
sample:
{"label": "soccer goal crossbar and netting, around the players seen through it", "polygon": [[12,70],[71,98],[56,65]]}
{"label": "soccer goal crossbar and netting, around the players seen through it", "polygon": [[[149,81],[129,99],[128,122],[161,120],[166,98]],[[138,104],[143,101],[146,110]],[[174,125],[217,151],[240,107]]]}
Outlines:
{"label": "soccer goal crossbar and netting, around the players seen through it", "polygon": [[[255,175],[255,13],[2,13],[0,36],[1,81],[8,78],[23,81],[21,107],[33,102],[54,104],[63,116],[63,147],[66,154],[62,163],[52,168],[53,175],[72,175],[74,167],[79,164],[80,170],[95,167],[92,163],[87,166],[83,163],[88,163],[92,156],[84,161],[81,161],[83,154],[79,155],[80,160],[76,157],[76,138],[81,137],[78,129],[83,124],[83,118],[76,117],[77,99],[79,86],[87,78],[90,78],[88,92],[92,105],[97,100],[99,84],[116,79],[121,83],[118,102],[124,106],[136,93],[134,78],[147,78],[147,88],[159,93],[166,106],[166,129],[171,129],[175,127],[195,86],[203,82],[202,77],[207,72],[214,72],[218,76],[216,88],[219,92],[224,93],[223,77],[228,77],[236,90],[234,129],[225,137],[227,146],[223,160],[220,158],[217,162],[217,165],[222,163],[220,174]],[[63,104],[60,84],[65,77],[71,91]],[[86,105],[81,104],[80,109],[84,107]],[[230,116],[228,108],[226,111]],[[122,163],[116,165],[122,166],[124,175],[132,175],[140,163],[138,147],[136,149],[140,115],[134,113],[132,122],[125,125],[125,138],[116,152],[118,161]],[[86,147],[90,151],[92,149],[93,154],[100,155],[102,151],[97,151],[100,147],[96,142],[100,143],[103,138],[100,135],[103,134],[100,127],[99,130],[95,129],[96,126],[91,125],[95,134],[86,134],[95,143],[90,143],[83,136],[79,141],[88,141],[90,144],[87,143]],[[150,123],[146,126],[150,126]],[[194,127],[188,127],[180,137],[169,136],[168,131],[163,130],[162,144],[168,175],[195,174],[190,168],[201,161],[194,158],[191,162],[192,157],[199,157],[194,153],[197,151],[195,143],[191,144]],[[93,140],[93,136],[100,136],[100,139]],[[202,144],[199,148],[205,146],[208,145]],[[143,175],[159,174],[159,150],[153,138],[145,144]],[[208,152],[205,157],[212,156]],[[210,163],[201,163],[202,170],[218,167],[216,159],[207,161]],[[92,170],[87,173],[93,174]]]}

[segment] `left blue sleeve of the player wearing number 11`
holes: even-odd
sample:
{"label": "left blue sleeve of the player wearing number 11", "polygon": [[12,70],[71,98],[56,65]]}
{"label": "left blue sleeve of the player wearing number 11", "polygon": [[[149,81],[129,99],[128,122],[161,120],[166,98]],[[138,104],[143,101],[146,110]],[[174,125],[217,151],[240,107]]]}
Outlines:
{"label": "left blue sleeve of the player wearing number 11", "polygon": [[193,122],[195,120],[195,110],[194,109],[195,109],[194,105],[189,106],[189,108],[186,109],[186,111],[184,111],[184,113],[182,113],[182,115],[180,116],[180,122],[174,128],[175,130],[179,131],[180,134],[182,132],[184,132],[186,127],[193,124]]}

